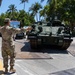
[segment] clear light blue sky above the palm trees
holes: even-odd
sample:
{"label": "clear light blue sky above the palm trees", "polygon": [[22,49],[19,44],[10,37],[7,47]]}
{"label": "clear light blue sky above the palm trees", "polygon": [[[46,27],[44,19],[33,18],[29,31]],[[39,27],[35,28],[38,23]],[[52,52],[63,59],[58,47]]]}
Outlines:
{"label": "clear light blue sky above the palm trees", "polygon": [[[29,0],[28,3],[26,3],[25,6],[25,10],[28,12],[29,7],[34,4],[35,2],[39,2],[40,3],[41,0]],[[15,6],[17,7],[17,10],[22,10],[24,8],[23,4],[20,4],[20,0],[3,0],[2,1],[2,5],[0,7],[0,14],[1,13],[5,13],[8,10],[8,6],[11,4],[15,4]],[[46,5],[46,0],[44,2],[41,3],[42,6]]]}

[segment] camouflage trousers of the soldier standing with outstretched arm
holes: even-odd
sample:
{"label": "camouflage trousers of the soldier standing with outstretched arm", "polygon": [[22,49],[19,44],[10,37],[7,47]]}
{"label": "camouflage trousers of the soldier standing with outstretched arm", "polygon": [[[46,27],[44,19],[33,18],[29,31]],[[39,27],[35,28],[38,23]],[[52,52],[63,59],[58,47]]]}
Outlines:
{"label": "camouflage trousers of the soldier standing with outstretched arm", "polygon": [[4,68],[8,67],[8,59],[10,58],[10,66],[14,66],[15,62],[15,46],[11,47],[2,47],[2,57],[3,57],[3,65]]}

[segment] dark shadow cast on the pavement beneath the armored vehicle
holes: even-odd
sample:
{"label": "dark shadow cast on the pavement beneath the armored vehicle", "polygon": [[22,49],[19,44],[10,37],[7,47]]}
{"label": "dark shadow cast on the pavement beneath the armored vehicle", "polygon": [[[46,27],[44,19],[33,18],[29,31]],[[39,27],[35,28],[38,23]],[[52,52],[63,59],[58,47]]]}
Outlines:
{"label": "dark shadow cast on the pavement beneath the armored vehicle", "polygon": [[21,48],[21,52],[38,52],[38,53],[63,53],[68,54],[67,50],[61,50],[56,47],[42,47],[37,49],[31,49],[29,42],[25,42],[25,45]]}

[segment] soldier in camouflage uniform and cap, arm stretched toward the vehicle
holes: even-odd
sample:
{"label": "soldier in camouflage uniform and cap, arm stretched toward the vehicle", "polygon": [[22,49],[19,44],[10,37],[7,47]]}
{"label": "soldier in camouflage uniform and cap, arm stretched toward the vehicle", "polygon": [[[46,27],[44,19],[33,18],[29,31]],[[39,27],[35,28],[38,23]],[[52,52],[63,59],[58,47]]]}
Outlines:
{"label": "soldier in camouflage uniform and cap, arm stretched toward the vehicle", "polygon": [[8,73],[8,56],[10,56],[10,72],[15,72],[14,58],[15,58],[15,46],[13,41],[13,35],[16,33],[24,32],[25,29],[16,29],[10,27],[10,19],[5,18],[5,26],[0,28],[2,34],[2,57],[5,73]]}

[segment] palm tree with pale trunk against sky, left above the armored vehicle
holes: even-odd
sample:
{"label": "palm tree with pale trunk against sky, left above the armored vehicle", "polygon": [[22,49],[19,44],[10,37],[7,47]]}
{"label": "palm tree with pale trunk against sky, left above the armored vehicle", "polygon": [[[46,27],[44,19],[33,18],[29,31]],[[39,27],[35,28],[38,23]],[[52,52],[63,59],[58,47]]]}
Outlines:
{"label": "palm tree with pale trunk against sky, left above the armored vehicle", "polygon": [[35,2],[35,4],[32,4],[32,6],[29,8],[29,11],[32,12],[32,14],[35,16],[36,15],[36,20],[38,21],[38,16],[37,13],[38,11],[42,8],[41,4],[38,2]]}

